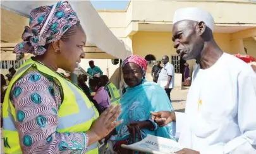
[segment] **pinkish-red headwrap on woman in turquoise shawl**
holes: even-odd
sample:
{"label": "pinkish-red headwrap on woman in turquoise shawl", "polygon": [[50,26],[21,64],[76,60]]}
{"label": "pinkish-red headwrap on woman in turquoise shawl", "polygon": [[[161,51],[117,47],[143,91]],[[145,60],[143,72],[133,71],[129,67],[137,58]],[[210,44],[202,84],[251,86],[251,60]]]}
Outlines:
{"label": "pinkish-red headwrap on woman in turquoise shawl", "polygon": [[123,61],[122,66],[125,66],[127,63],[136,63],[142,69],[142,76],[145,78],[145,73],[147,71],[147,60],[139,57],[138,55],[130,55]]}

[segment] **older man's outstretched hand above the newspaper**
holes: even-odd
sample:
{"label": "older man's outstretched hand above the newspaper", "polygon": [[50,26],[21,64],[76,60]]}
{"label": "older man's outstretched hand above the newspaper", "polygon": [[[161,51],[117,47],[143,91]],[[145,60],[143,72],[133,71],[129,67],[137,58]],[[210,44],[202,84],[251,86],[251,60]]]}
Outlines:
{"label": "older man's outstretched hand above the newspaper", "polygon": [[175,113],[169,111],[159,111],[157,113],[151,112],[152,120],[155,121],[159,126],[166,126],[172,121],[176,121]]}

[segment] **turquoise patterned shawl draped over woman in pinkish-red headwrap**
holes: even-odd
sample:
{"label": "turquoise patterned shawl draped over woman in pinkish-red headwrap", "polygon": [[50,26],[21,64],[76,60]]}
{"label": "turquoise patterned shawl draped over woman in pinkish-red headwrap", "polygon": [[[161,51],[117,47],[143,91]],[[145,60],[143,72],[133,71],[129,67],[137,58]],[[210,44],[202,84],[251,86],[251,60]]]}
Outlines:
{"label": "turquoise patterned shawl draped over woman in pinkish-red headwrap", "polygon": [[[121,99],[121,107],[122,113],[119,119],[123,119],[123,123],[116,127],[116,141],[128,140],[127,123],[149,120],[151,118],[150,111],[173,111],[171,102],[164,89],[154,82],[147,82],[145,79],[137,87],[128,87],[126,89]],[[150,134],[174,140],[173,123],[169,123],[164,127],[158,127],[154,131],[142,129],[141,134],[142,138]]]}

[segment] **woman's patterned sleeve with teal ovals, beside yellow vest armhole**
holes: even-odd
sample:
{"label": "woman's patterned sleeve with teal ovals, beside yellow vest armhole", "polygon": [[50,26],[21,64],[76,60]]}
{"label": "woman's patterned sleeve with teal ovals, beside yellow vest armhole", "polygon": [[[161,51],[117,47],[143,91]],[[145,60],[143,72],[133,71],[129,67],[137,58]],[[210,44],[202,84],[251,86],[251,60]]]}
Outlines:
{"label": "woman's patterned sleeve with teal ovals, beside yellow vest armhole", "polygon": [[24,75],[11,89],[23,153],[85,153],[86,133],[58,133],[59,85],[39,72]]}

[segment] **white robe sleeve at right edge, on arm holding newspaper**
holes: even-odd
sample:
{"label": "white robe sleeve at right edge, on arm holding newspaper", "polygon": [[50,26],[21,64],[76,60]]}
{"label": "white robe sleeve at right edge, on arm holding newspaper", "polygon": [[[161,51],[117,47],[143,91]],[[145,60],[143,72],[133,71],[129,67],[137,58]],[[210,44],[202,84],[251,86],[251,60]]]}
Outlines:
{"label": "white robe sleeve at right edge, on arm holding newspaper", "polygon": [[[214,154],[256,153],[256,74],[251,68],[238,75],[238,126],[241,135],[224,146],[212,147]],[[200,154],[208,154],[200,151]]]}

